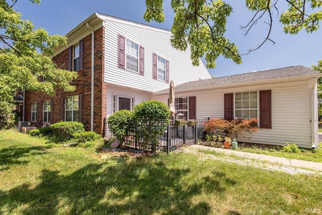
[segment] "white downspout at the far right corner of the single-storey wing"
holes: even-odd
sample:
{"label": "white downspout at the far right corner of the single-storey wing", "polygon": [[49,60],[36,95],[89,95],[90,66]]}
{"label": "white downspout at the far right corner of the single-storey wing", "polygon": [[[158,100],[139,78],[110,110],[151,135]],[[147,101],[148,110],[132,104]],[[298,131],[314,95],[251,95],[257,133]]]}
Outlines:
{"label": "white downspout at the far right corner of the single-storey wing", "polygon": [[318,126],[317,126],[317,78],[312,80],[311,86],[311,144],[312,148],[318,149]]}

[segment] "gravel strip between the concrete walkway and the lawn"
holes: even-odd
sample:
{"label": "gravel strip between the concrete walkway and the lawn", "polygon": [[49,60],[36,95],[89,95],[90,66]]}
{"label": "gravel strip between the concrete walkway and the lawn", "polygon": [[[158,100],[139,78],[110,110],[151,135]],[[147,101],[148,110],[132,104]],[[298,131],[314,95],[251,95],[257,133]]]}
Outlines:
{"label": "gravel strip between the concrete walkway and the lawn", "polygon": [[259,161],[256,159],[248,159],[248,158],[241,158],[241,159],[236,159],[236,158],[231,158],[228,155],[224,158],[216,157],[215,155],[209,155],[206,153],[202,152],[197,152],[193,149],[189,148],[181,148],[180,150],[177,150],[178,152],[184,152],[184,153],[190,153],[194,155],[200,156],[200,160],[205,161],[205,160],[219,160],[223,162],[232,162],[235,164],[239,165],[248,165],[248,166],[253,166],[256,168],[264,169],[264,170],[270,170],[270,171],[281,171],[285,172],[288,174],[306,174],[306,175],[322,175],[322,172],[315,171],[315,170],[306,170],[302,168],[297,168],[297,167],[290,167],[290,166],[283,166],[283,165],[276,165],[270,162],[263,162]]}

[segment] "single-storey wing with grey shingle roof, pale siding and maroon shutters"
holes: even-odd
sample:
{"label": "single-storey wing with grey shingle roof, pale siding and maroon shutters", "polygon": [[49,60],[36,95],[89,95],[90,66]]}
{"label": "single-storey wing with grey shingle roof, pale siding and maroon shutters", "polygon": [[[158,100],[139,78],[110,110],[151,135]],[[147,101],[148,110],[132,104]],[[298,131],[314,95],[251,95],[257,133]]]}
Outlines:
{"label": "single-storey wing with grey shingle roof, pale siding and maroon shutters", "polygon": [[[187,82],[176,85],[176,107],[187,118],[257,118],[260,130],[251,139],[238,136],[240,142],[318,148],[319,77],[298,65]],[[167,103],[168,92],[152,99]]]}

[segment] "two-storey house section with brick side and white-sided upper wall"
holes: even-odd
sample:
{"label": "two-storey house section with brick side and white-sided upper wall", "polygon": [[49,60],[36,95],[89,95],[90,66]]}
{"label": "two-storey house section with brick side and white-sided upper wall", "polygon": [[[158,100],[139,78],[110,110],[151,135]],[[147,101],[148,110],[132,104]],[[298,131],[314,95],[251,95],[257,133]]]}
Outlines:
{"label": "two-storey house section with brick side and white-sided upper wall", "polygon": [[171,46],[168,30],[94,13],[66,35],[52,60],[77,71],[74,92],[26,92],[25,121],[33,125],[58,121],[83,122],[87,130],[103,132],[104,119],[132,109],[152,93],[185,82],[210,79],[200,60],[193,66],[190,51]]}

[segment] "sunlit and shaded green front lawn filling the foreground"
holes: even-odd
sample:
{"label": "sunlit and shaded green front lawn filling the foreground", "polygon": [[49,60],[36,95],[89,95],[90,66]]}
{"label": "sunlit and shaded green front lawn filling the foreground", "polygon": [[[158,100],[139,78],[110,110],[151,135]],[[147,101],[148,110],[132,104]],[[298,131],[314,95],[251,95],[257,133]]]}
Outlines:
{"label": "sunlit and shaded green front lawn filling the foreground", "polygon": [[0,214],[305,214],[321,175],[202,156],[96,153],[0,131]]}

